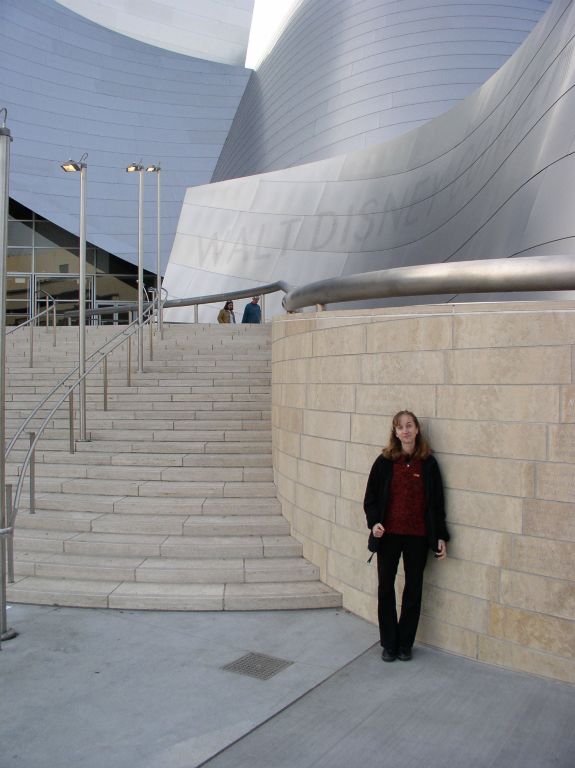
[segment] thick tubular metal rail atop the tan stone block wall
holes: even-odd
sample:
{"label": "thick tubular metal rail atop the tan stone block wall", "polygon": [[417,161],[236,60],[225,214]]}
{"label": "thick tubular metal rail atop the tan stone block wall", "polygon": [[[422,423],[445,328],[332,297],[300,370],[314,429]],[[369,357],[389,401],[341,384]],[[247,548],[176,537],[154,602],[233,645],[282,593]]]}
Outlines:
{"label": "thick tubular metal rail atop the tan stone block wall", "polygon": [[283,298],[287,312],[335,302],[446,293],[575,290],[574,256],[420,264],[335,277],[293,288]]}

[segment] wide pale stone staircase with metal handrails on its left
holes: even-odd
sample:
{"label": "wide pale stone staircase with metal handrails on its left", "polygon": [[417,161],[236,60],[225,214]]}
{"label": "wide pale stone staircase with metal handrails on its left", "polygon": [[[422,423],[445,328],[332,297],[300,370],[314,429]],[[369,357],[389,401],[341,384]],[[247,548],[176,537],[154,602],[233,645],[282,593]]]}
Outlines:
{"label": "wide pale stone staircase with metal handrails on its left", "polygon": [[[87,349],[118,328],[88,328]],[[78,329],[56,347],[8,337],[7,435],[74,365]],[[19,335],[21,334],[21,335]],[[289,534],[273,483],[269,326],[166,326],[127,385],[126,352],[87,386],[89,440],[69,452],[68,408],[36,453],[36,513],[16,521],[13,602],[160,610],[341,605]],[[146,337],[147,355],[147,337]],[[135,368],[135,366],[134,366]],[[46,413],[44,409],[42,416]],[[39,419],[36,419],[39,421]],[[28,436],[7,465],[16,484]],[[26,487],[26,486],[25,486]]]}

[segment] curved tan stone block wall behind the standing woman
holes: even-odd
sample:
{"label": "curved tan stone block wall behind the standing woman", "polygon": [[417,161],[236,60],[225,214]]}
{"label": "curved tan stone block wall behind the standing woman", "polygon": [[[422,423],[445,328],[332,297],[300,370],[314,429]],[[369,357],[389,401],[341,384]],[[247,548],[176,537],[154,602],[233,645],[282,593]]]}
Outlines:
{"label": "curved tan stone block wall behind the standing woman", "polygon": [[440,462],[452,536],[447,561],[429,561],[419,640],[575,682],[574,349],[573,302],[274,320],[279,496],[346,608],[376,622],[363,494],[408,408]]}

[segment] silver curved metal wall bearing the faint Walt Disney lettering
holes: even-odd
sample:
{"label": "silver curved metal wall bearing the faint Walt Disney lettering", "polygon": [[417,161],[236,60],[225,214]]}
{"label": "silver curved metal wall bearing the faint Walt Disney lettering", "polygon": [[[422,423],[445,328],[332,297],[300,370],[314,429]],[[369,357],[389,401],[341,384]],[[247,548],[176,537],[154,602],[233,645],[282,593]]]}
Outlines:
{"label": "silver curved metal wall bearing the faint Walt Disney lettering", "polygon": [[[556,0],[448,113],[330,160],[189,189],[166,287],[202,293],[442,261],[575,254],[575,9]],[[185,275],[189,276],[189,280]]]}

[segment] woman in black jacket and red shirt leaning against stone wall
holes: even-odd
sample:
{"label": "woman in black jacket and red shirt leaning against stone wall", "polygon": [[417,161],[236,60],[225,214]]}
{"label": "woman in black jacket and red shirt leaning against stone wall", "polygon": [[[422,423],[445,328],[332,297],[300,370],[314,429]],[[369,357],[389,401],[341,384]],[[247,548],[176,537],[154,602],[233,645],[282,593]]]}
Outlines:
{"label": "woman in black jacket and red shirt leaning against stone wall", "polygon": [[[384,661],[409,661],[421,612],[427,552],[447,557],[439,465],[411,411],[393,417],[389,443],[375,460],[365,491],[367,526],[377,542],[378,621]],[[405,586],[397,618],[395,577],[403,557]]]}

